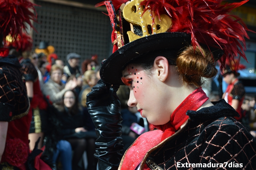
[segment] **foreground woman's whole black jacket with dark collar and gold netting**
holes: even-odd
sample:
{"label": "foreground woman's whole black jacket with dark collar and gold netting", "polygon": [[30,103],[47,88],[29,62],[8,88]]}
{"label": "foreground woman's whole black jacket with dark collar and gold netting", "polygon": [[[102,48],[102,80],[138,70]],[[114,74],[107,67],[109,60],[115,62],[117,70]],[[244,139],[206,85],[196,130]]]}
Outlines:
{"label": "foreground woman's whole black jacket with dark collar and gold netting", "polygon": [[[141,169],[147,163],[150,169],[159,170],[218,169],[213,166],[220,167],[220,164],[226,167],[219,169],[255,170],[255,139],[233,118],[238,113],[229,104],[224,100],[214,104],[198,111],[187,111],[190,118],[186,125],[150,149]],[[192,163],[197,167],[193,168]]]}

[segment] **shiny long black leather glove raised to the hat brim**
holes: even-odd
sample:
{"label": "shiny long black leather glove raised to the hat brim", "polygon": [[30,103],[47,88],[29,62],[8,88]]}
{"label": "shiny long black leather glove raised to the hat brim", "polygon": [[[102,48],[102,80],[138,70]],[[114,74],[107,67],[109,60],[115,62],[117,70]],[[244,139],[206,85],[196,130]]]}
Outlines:
{"label": "shiny long black leather glove raised to the hat brim", "polygon": [[87,95],[87,108],[98,136],[94,156],[99,159],[98,170],[117,170],[123,150],[121,106],[116,91],[119,85],[107,84],[99,80]]}

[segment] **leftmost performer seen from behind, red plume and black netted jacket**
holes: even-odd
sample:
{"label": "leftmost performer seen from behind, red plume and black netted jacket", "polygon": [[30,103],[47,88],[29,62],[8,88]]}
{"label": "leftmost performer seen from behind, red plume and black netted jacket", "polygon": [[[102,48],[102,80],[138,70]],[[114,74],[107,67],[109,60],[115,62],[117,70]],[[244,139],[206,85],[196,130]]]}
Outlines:
{"label": "leftmost performer seen from behind, red plume and black netted jacket", "polygon": [[[27,0],[0,2],[0,169],[50,170],[41,159],[42,150],[29,151],[28,131],[32,113],[18,56],[8,55],[2,40],[15,40],[26,24],[36,20],[34,4]],[[27,22],[27,23],[26,23]],[[5,43],[4,43],[5,44]],[[6,44],[5,44],[6,45]],[[36,163],[36,164],[35,164]]]}

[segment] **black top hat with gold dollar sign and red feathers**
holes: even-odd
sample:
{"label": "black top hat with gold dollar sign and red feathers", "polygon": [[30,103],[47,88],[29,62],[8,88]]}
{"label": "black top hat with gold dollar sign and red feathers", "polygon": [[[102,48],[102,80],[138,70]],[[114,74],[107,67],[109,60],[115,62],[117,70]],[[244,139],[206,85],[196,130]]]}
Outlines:
{"label": "black top hat with gold dollar sign and red feathers", "polygon": [[[123,1],[122,1],[123,2]],[[220,1],[189,0],[132,0],[124,3],[113,0],[106,5],[113,28],[113,54],[102,62],[101,79],[111,84],[123,84],[121,70],[130,61],[157,49],[201,46],[213,53],[214,61],[233,60],[237,54],[245,57],[241,43],[248,37],[245,25],[228,13],[245,3],[221,5]],[[182,9],[182,10],[181,10]],[[242,49],[240,51],[240,49]],[[223,55],[224,54],[224,55]]]}

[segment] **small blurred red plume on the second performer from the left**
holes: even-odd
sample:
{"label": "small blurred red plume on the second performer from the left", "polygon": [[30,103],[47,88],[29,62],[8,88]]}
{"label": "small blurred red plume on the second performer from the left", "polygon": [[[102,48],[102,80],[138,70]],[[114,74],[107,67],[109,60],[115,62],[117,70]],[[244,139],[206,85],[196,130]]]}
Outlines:
{"label": "small blurred red plume on the second performer from the left", "polygon": [[22,36],[18,34],[18,36],[13,42],[6,41],[6,45],[8,47],[15,48],[17,51],[18,50],[20,50],[21,52],[30,51],[33,46],[33,39],[31,38],[31,36],[25,33],[22,33]]}

